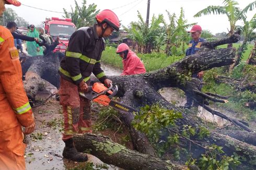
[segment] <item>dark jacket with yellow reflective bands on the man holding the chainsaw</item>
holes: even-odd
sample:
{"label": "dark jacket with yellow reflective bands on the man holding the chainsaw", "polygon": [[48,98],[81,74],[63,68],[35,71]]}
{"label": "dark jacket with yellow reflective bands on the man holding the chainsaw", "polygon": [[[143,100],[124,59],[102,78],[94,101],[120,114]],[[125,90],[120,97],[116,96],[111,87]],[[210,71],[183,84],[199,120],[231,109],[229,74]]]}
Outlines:
{"label": "dark jacket with yellow reflective bands on the man holding the chainsaw", "polygon": [[62,78],[77,85],[82,80],[89,80],[91,73],[104,82],[107,77],[100,67],[103,50],[104,40],[98,37],[96,25],[79,28],[69,40],[59,74]]}

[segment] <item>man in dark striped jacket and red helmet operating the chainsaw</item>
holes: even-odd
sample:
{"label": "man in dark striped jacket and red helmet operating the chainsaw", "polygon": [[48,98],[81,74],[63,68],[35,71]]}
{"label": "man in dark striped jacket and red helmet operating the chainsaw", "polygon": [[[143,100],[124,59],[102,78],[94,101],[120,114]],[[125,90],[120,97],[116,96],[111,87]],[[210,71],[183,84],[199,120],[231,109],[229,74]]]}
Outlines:
{"label": "man in dark striped jacket and red helmet operating the chainsaw", "polygon": [[108,87],[112,83],[100,67],[100,57],[104,50],[103,38],[114,30],[119,31],[120,27],[117,15],[109,9],[97,14],[96,20],[93,27],[82,27],[72,34],[59,69],[60,104],[64,115],[63,157],[77,162],[85,162],[88,158],[77,152],[72,136],[91,132],[90,101],[80,98],[78,92],[87,92],[91,73]]}

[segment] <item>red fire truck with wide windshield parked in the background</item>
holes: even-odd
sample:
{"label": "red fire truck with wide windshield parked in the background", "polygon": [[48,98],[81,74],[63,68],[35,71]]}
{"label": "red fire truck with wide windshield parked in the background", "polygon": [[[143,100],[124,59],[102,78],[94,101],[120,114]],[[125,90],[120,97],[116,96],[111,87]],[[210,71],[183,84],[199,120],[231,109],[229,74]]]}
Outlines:
{"label": "red fire truck with wide windshield parked in the background", "polygon": [[53,41],[59,37],[60,44],[55,51],[65,52],[71,35],[76,31],[76,26],[70,18],[46,18],[44,22],[45,32],[50,35]]}

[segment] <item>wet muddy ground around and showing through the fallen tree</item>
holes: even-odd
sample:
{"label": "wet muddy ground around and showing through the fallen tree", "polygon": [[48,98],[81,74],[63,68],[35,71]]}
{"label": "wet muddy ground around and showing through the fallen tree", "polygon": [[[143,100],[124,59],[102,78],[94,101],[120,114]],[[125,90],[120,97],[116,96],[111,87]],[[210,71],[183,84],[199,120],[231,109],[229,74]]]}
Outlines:
{"label": "wet muddy ground around and showing through the fallen tree", "polygon": [[[120,75],[121,70],[113,69],[111,67],[103,66],[103,70],[107,75]],[[46,84],[48,91],[43,91],[38,94],[38,99],[40,101],[48,98],[51,93],[56,91],[51,84]],[[185,104],[185,95],[179,89],[163,88],[159,90],[159,93],[165,97],[166,100],[176,104],[177,106],[183,106]],[[211,105],[222,113],[225,113],[229,117],[239,117],[237,113],[232,111],[226,111],[221,108],[217,108]],[[28,170],[32,169],[79,169],[81,167],[87,166],[84,169],[92,169],[92,164],[94,168],[96,165],[98,169],[120,169],[113,165],[106,165],[101,162],[97,157],[89,155],[89,163],[76,163],[73,161],[68,161],[63,159],[62,150],[64,148],[64,142],[62,141],[63,132],[63,116],[62,108],[54,98],[50,98],[47,102],[42,105],[38,105],[33,108],[34,116],[36,118],[36,130],[26,137],[26,166]],[[203,110],[202,107],[199,108],[199,116],[203,119],[211,122],[215,122],[217,126],[223,126],[226,121],[222,118],[215,116]],[[97,113],[94,114],[94,120],[97,117]],[[253,123],[254,125],[254,123]],[[256,130],[256,126],[253,129]],[[103,131],[94,131],[95,133],[101,133],[102,135],[109,136],[113,141],[122,143],[126,147],[132,149],[132,144],[129,141],[123,142],[122,139],[125,138],[129,133],[127,131],[116,132],[110,129]]]}

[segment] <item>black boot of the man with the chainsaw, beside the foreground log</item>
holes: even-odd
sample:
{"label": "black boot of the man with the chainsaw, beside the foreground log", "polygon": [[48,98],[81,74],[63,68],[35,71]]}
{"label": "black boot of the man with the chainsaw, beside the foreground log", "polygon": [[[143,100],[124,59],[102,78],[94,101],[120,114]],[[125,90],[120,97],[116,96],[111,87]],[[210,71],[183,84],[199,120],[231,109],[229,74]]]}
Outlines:
{"label": "black boot of the man with the chainsaw, beside the foreground log", "polygon": [[80,153],[76,150],[73,139],[68,139],[65,142],[65,148],[63,150],[63,157],[75,162],[86,162],[88,157],[85,153]]}

